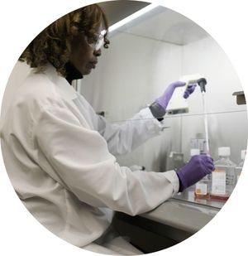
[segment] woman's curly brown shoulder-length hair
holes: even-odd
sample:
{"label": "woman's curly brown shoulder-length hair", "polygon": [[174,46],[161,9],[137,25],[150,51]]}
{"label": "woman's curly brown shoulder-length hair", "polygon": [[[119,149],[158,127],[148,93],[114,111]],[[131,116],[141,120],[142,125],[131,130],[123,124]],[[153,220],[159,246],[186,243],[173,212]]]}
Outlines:
{"label": "woman's curly brown shoulder-length hair", "polygon": [[[66,77],[64,65],[69,61],[71,42],[74,36],[83,31],[88,38],[93,38],[101,22],[107,31],[106,14],[98,4],[82,7],[60,17],[36,36],[22,52],[19,60],[26,61],[36,72],[45,70],[50,63],[60,75]],[[108,48],[107,33],[104,35],[104,47]]]}

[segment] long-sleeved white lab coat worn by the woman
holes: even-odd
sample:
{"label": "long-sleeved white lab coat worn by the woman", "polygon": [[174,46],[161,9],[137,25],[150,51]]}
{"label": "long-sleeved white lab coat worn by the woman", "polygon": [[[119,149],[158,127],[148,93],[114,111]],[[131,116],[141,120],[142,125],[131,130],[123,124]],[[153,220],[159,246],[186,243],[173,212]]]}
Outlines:
{"label": "long-sleeved white lab coat worn by the woman", "polygon": [[79,247],[110,225],[102,207],[138,215],[179,191],[175,171],[131,171],[114,155],[159,134],[142,109],[109,124],[52,66],[31,71],[2,105],[2,154],[21,201],[47,229]]}

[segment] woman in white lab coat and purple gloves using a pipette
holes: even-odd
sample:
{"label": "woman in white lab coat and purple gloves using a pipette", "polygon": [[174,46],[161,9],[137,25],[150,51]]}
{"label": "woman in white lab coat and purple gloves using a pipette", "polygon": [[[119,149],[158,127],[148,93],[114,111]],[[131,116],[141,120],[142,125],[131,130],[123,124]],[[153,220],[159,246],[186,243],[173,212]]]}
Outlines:
{"label": "woman in white lab coat and purple gloves using a pipette", "polygon": [[[114,157],[161,133],[175,82],[121,126],[95,114],[72,80],[88,75],[107,48],[107,18],[98,5],[61,17],[36,36],[20,60],[31,74],[5,94],[2,154],[21,201],[60,238],[104,254],[141,254],[110,228],[104,208],[138,215],[184,191],[213,170],[193,157],[175,171],[131,171]],[[185,97],[194,88],[185,91]]]}

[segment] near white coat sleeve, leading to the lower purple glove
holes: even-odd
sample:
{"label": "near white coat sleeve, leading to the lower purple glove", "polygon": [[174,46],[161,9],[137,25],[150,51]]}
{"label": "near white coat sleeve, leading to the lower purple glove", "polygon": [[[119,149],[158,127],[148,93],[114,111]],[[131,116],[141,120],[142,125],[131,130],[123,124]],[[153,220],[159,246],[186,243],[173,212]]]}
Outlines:
{"label": "near white coat sleeve, leading to the lower purple glove", "polygon": [[[83,127],[69,109],[43,109],[34,125],[36,151],[45,171],[79,200],[129,215],[154,209],[179,191],[175,171],[131,171],[120,167],[100,133]],[[39,158],[39,157],[38,157]],[[38,160],[39,162],[39,160]]]}

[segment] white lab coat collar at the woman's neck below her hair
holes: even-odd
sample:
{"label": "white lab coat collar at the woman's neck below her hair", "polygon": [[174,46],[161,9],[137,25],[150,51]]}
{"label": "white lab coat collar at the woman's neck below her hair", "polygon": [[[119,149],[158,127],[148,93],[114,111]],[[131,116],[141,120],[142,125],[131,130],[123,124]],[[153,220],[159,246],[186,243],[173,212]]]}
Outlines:
{"label": "white lab coat collar at the woman's neck below her hair", "polygon": [[47,75],[49,80],[51,80],[56,85],[56,88],[59,89],[60,94],[65,99],[72,100],[78,98],[74,87],[69,85],[69,82],[63,76],[58,74],[53,65],[47,65],[45,75]]}

